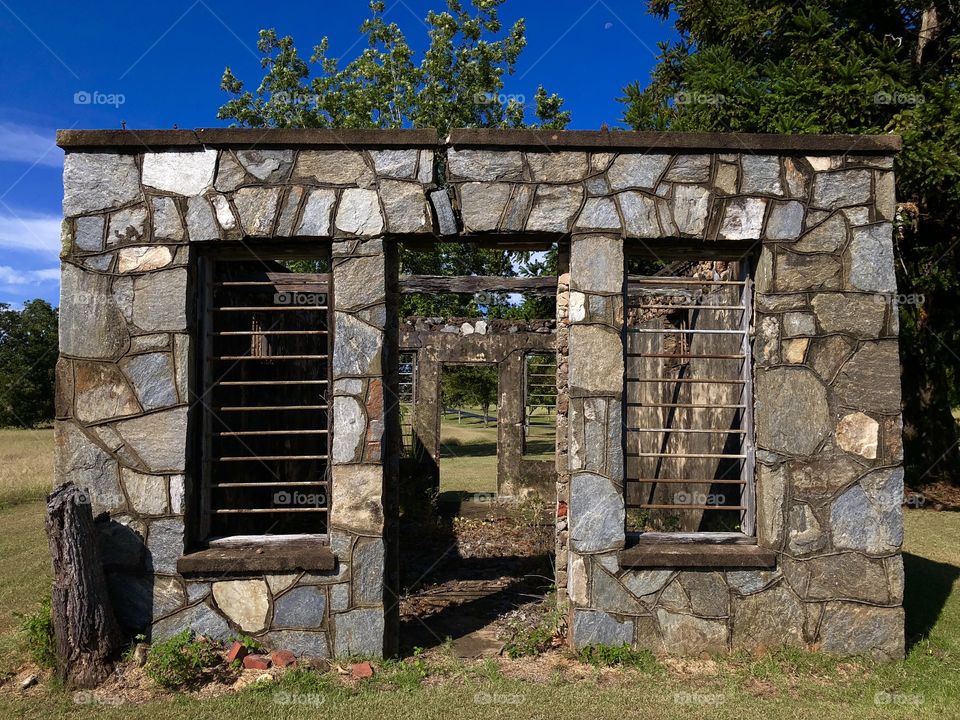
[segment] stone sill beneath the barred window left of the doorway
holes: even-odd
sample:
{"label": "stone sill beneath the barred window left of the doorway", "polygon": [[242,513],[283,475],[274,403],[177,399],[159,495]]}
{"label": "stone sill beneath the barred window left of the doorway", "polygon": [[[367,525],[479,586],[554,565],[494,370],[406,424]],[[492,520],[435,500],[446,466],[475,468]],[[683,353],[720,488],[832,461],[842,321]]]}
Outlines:
{"label": "stone sill beneath the barred window left of the doorway", "polygon": [[250,538],[188,553],[177,560],[177,572],[181,575],[325,572],[335,569],[336,562],[333,550],[321,540]]}

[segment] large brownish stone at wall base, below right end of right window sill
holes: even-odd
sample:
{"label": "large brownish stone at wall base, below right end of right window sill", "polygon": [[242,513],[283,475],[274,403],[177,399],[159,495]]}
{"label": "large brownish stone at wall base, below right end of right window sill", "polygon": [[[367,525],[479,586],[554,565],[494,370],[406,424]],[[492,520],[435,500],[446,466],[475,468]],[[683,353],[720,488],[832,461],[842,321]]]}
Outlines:
{"label": "large brownish stone at wall base, below right end of right window sill", "polygon": [[733,616],[734,650],[805,646],[803,603],[783,584],[735,599]]}

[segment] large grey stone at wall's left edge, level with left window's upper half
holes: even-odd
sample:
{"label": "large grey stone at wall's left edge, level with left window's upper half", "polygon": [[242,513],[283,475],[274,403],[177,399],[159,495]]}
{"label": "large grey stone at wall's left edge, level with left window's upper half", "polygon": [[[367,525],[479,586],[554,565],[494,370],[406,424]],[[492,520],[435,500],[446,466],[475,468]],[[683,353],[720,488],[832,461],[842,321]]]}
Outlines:
{"label": "large grey stone at wall's left edge, level with left window's upper half", "polygon": [[123,352],[127,337],[110,277],[65,263],[60,275],[60,352],[114,358]]}

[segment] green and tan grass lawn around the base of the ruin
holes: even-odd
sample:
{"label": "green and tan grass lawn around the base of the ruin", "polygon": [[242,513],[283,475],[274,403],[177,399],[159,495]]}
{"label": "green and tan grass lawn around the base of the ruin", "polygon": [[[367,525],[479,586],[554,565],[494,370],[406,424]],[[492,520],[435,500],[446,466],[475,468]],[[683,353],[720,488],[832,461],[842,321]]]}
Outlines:
{"label": "green and tan grass lawn around the base of the ruin", "polygon": [[[461,427],[458,432],[466,437],[489,430]],[[3,477],[0,492],[13,482]],[[0,510],[0,527],[5,531],[0,536],[0,672],[8,673],[25,660],[12,613],[35,607],[49,584],[42,503],[26,501]],[[20,695],[7,685],[0,689],[0,718],[960,717],[960,513],[910,510],[906,529],[911,645],[901,662],[880,665],[781,652],[648,659],[638,667],[601,669],[576,662],[564,651],[519,660],[460,661],[439,650],[426,658],[375,663],[377,674],[360,682],[343,680],[336,672],[296,673],[278,684],[202,699],[109,691],[74,696],[49,683]],[[131,707],[131,702],[142,704]]]}

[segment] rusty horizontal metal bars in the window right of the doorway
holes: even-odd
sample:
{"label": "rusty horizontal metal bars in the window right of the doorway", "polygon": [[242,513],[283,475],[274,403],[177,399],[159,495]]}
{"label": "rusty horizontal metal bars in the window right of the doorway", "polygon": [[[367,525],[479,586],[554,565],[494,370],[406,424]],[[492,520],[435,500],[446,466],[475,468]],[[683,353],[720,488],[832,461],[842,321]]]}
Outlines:
{"label": "rusty horizontal metal bars in the window right of the doorway", "polygon": [[755,532],[752,294],[744,272],[627,278],[625,499],[645,522],[679,518],[686,527],[666,529],[699,531],[710,513]]}

